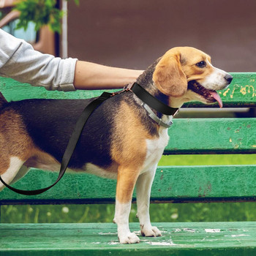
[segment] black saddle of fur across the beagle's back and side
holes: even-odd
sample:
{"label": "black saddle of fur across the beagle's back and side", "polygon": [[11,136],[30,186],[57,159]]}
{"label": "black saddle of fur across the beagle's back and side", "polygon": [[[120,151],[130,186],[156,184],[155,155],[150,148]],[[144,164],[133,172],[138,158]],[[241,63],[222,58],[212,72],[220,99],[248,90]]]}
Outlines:
{"label": "black saddle of fur across the beagle's back and side", "polygon": [[[118,113],[118,106],[123,100],[138,113],[138,118],[151,135],[157,133],[157,125],[148,117],[146,111],[135,103],[133,96],[130,92],[116,95],[94,110],[78,140],[69,167],[82,168],[88,162],[99,167],[108,167],[112,163],[110,145],[113,136],[122,136],[113,135],[113,121],[117,114],[126,114]],[[75,123],[91,100],[26,99],[10,102],[8,108],[15,109],[22,116],[35,145],[61,162]]]}

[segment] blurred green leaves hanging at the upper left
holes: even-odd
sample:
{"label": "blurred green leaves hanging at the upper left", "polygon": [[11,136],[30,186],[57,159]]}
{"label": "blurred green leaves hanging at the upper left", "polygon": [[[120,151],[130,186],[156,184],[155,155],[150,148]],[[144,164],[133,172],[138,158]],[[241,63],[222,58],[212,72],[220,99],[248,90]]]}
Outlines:
{"label": "blurred green leaves hanging at the upper left", "polygon": [[[73,1],[79,4],[79,0]],[[29,21],[32,21],[37,31],[42,26],[48,25],[50,30],[61,33],[60,20],[64,12],[56,8],[56,0],[21,0],[15,3],[13,9],[20,12],[17,29],[28,29]]]}

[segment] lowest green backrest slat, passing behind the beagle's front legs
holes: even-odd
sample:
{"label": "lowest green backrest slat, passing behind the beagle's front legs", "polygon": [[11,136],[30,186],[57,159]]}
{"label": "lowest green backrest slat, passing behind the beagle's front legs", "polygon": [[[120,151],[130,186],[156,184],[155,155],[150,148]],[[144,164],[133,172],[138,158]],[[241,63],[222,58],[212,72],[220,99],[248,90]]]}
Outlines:
{"label": "lowest green backrest slat, passing behind the beagle's front legs", "polygon": [[[57,173],[31,170],[15,184],[20,189],[47,187]],[[256,165],[162,166],[151,192],[153,202],[217,202],[256,199]],[[114,203],[116,181],[85,173],[67,173],[48,192],[37,196],[0,192],[1,204]]]}

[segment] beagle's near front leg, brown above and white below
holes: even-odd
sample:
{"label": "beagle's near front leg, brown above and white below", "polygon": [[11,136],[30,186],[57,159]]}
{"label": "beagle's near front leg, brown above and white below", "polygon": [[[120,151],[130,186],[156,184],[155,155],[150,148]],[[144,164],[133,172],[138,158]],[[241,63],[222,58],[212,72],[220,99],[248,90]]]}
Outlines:
{"label": "beagle's near front leg, brown above and white below", "polygon": [[118,228],[118,239],[121,244],[135,244],[140,238],[129,230],[129,212],[131,211],[132,192],[138,178],[138,170],[132,167],[118,167],[116,185],[116,213],[114,222]]}

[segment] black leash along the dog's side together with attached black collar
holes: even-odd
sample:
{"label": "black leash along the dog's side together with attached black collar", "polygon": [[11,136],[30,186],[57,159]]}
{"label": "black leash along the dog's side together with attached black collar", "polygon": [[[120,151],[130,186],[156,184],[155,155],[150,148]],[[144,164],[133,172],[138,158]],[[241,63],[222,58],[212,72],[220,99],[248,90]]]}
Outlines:
{"label": "black leash along the dog's side together with attached black collar", "polygon": [[67,148],[64,151],[64,154],[62,157],[59,176],[52,185],[50,185],[49,187],[45,187],[43,189],[22,190],[22,189],[15,189],[14,187],[11,187],[9,184],[6,184],[1,178],[1,176],[0,176],[0,181],[8,189],[11,189],[13,192],[16,192],[21,195],[39,195],[47,191],[48,189],[52,188],[64,176],[64,173],[67,170],[67,166],[69,165],[69,161],[75,150],[75,146],[77,145],[80,135],[83,131],[83,127],[86,125],[86,121],[88,120],[89,116],[91,116],[91,113],[93,113],[94,110],[96,110],[99,107],[99,105],[101,105],[102,102],[104,102],[106,99],[109,99],[110,97],[113,97],[117,94],[121,94],[123,92],[133,92],[146,105],[148,105],[151,108],[154,108],[154,110],[157,110],[158,112],[163,113],[167,116],[174,116],[178,111],[178,108],[170,108],[169,106],[159,101],[159,99],[155,98],[153,95],[148,93],[148,91],[143,89],[143,87],[141,87],[138,83],[129,83],[127,86],[124,86],[123,91],[117,91],[113,93],[109,93],[105,91],[97,99],[94,99],[94,101],[89,103],[89,105],[86,106],[86,108],[83,110],[80,117],[78,118],[78,121],[75,124],[75,129],[73,130],[72,135],[69,138],[69,143],[67,144]]}

